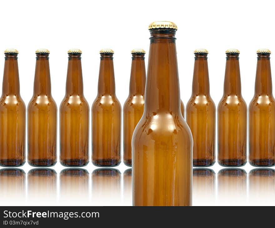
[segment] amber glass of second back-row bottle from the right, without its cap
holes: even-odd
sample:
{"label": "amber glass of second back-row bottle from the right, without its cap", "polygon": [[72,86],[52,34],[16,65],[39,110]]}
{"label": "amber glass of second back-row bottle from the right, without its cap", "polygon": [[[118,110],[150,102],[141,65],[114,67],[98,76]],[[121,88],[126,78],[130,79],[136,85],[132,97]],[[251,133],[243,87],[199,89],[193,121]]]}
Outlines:
{"label": "amber glass of second back-row bottle from the right, without its cap", "polygon": [[239,53],[226,54],[223,97],[218,104],[218,163],[246,163],[247,106],[241,93]]}

